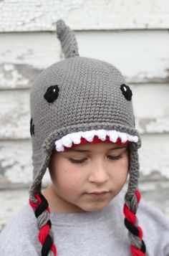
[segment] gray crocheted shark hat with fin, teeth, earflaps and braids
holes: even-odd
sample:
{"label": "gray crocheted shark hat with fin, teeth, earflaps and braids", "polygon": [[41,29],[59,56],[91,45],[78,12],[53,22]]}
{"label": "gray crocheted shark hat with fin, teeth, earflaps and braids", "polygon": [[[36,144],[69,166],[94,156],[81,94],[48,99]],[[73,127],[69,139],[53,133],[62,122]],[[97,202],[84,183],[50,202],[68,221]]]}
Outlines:
{"label": "gray crocheted shark hat with fin, teeth, earflaps and braids", "polygon": [[79,56],[75,34],[62,19],[57,21],[57,37],[65,59],[41,72],[30,93],[34,175],[29,204],[37,217],[42,255],[57,255],[48,203],[41,194],[53,149],[65,151],[100,141],[128,143],[130,147],[130,179],[123,212],[132,255],[145,255],[143,232],[135,216],[140,201],[137,148],[141,139],[135,129],[132,91],[117,67]]}

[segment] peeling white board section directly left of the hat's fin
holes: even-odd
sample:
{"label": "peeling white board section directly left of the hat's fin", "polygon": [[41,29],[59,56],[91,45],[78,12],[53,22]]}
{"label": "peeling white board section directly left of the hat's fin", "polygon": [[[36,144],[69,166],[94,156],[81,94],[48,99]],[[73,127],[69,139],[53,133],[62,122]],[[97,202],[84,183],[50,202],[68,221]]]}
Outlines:
{"label": "peeling white board section directly left of the hat's fin", "polygon": [[45,67],[59,61],[56,34],[0,34],[0,89],[27,88]]}

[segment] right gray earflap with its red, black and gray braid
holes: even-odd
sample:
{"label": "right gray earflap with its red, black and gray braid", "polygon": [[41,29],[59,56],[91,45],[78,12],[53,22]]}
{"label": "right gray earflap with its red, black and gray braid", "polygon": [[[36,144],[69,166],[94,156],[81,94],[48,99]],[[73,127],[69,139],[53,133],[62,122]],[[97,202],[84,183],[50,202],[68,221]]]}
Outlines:
{"label": "right gray earflap with its red, black and gray braid", "polygon": [[137,146],[135,143],[130,143],[130,179],[127,193],[125,194],[123,213],[125,215],[125,227],[128,229],[128,239],[130,241],[132,255],[145,256],[146,247],[142,239],[143,230],[138,226],[138,219],[136,217],[137,207],[141,198],[140,191],[137,189],[140,176]]}

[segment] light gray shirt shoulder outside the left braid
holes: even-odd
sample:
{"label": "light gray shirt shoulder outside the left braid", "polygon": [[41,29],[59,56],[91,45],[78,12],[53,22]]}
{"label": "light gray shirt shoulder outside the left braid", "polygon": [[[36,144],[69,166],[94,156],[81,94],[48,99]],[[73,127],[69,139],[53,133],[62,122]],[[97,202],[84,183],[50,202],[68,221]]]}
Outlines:
{"label": "light gray shirt shoulder outside the left braid", "polygon": [[[37,237],[32,235],[38,232],[37,219],[29,204],[26,204],[0,233],[0,252],[7,255],[37,255],[34,242],[39,244]],[[20,253],[19,253],[20,252]]]}

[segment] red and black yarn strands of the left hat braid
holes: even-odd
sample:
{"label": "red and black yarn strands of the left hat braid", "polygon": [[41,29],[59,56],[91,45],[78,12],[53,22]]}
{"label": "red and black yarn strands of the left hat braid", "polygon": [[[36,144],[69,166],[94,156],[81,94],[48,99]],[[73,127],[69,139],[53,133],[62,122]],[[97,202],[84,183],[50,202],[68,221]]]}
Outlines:
{"label": "red and black yarn strands of the left hat braid", "polygon": [[[44,196],[41,193],[34,194],[34,197],[38,201],[38,205],[32,202],[31,199],[29,199],[29,204],[34,210],[35,216],[38,218],[39,215],[41,215],[44,211],[47,211],[50,213],[48,202],[44,198]],[[52,237],[49,234],[51,229],[52,223],[50,219],[48,219],[46,224],[43,224],[42,227],[39,228],[39,242],[42,244],[42,256],[56,256],[57,255],[57,247],[52,242]]]}

